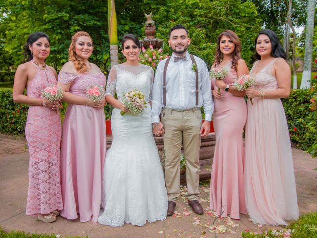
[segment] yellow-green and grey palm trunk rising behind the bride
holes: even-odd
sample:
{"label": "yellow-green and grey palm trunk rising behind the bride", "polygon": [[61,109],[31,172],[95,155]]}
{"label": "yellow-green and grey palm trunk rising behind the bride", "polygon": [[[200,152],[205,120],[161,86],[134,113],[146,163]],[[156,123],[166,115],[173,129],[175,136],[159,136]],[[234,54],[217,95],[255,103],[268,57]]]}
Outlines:
{"label": "yellow-green and grey palm trunk rising behind the bride", "polygon": [[114,0],[108,0],[108,26],[110,40],[110,60],[111,68],[113,65],[119,64],[118,52],[118,27],[117,16],[115,13]]}

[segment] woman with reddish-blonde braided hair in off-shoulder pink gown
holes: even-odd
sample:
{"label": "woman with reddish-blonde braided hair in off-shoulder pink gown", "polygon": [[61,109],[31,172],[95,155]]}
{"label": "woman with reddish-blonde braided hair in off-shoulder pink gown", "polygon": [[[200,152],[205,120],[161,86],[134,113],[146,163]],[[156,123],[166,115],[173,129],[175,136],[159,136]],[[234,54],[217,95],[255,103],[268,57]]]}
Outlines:
{"label": "woman with reddish-blonde braided hair in off-shoulder pink gown", "polygon": [[87,99],[90,85],[105,87],[106,78],[88,58],[93,51],[92,39],[77,32],[69,47],[69,62],[58,75],[63,100],[68,102],[61,145],[61,181],[64,209],[61,215],[81,222],[97,222],[101,205],[102,168],[106,157],[105,98],[100,102]]}

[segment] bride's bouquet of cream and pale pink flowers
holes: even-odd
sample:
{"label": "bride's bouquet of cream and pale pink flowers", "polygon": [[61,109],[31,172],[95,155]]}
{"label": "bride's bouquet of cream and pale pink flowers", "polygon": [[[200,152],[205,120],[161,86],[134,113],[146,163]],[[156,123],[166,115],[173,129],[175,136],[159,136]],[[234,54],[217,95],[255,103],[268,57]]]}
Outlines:
{"label": "bride's bouquet of cream and pale pink flowers", "polygon": [[[123,94],[123,104],[129,109],[129,113],[133,115],[141,114],[143,109],[147,107],[144,94],[137,89],[130,90]],[[120,114],[124,115],[125,112],[121,111]]]}

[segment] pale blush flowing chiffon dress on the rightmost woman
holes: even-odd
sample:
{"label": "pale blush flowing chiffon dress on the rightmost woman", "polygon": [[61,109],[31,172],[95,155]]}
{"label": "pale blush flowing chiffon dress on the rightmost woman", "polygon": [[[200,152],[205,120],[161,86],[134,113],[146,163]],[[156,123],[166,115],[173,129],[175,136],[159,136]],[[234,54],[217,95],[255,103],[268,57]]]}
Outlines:
{"label": "pale blush flowing chiffon dress on the rightmost woman", "polygon": [[[276,58],[278,59],[278,58]],[[256,74],[257,90],[274,90],[276,59]],[[250,73],[259,61],[255,62]],[[245,138],[245,190],[248,214],[254,223],[287,225],[298,218],[292,149],[280,99],[248,100]]]}

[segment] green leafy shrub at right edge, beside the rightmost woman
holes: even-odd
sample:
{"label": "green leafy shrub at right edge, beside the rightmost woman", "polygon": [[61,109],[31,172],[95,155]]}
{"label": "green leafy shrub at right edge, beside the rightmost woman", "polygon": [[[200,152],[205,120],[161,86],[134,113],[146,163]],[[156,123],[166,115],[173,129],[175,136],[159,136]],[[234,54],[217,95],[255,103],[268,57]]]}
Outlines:
{"label": "green leafy shrub at right edge, beside the rightmost woman", "polygon": [[291,90],[290,96],[283,99],[290,137],[293,145],[307,150],[317,157],[317,90]]}

